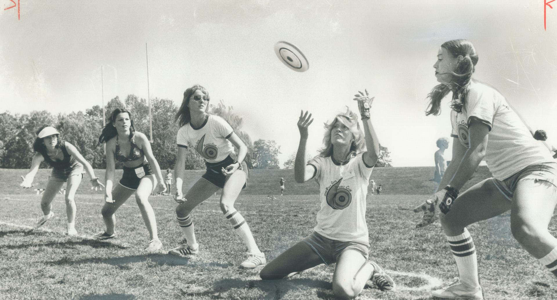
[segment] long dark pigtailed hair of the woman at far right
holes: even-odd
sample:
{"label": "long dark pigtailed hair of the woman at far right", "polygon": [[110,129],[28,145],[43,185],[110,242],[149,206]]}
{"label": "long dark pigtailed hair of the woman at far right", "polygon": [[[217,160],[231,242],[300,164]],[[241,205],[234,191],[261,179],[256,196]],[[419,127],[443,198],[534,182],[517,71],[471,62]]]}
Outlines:
{"label": "long dark pigtailed hair of the woman at far right", "polygon": [[478,63],[478,54],[473,44],[466,39],[453,39],[444,42],[441,48],[447,49],[453,57],[462,56],[463,59],[458,62],[455,72],[452,72],[453,79],[449,84],[438,84],[433,87],[427,95],[430,99],[426,116],[433,114],[437,116],[441,113],[441,100],[447,96],[449,92],[453,92],[452,101],[449,106],[456,112],[462,112],[462,107],[466,104],[466,96],[468,94],[468,85],[472,79],[472,73]]}

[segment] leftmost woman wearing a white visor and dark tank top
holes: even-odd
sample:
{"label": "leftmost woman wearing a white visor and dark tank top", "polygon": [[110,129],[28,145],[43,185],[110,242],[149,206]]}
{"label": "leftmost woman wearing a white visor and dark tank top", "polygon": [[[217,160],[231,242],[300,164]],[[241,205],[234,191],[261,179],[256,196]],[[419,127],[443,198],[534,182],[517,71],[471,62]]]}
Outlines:
{"label": "leftmost woman wearing a white visor and dark tank top", "polygon": [[56,128],[51,126],[43,126],[36,132],[37,138],[33,143],[33,159],[31,161],[31,171],[26,176],[22,176],[23,182],[19,186],[30,188],[33,186],[33,179],[37,174],[38,167],[41,162],[46,162],[52,167],[52,173],[48,178],[45,193],[42,194],[41,209],[43,216],[38,219],[35,228],[43,226],[50,220],[54,213],[52,212],[52,200],[60,191],[60,188],[66,184],[66,216],[67,216],[67,234],[74,236],[77,234],[75,229],[75,193],[81,179],[83,178],[84,166],[85,171],[91,177],[91,188],[102,188],[104,185],[95,177],[95,171],[91,164],[79,153],[77,148],[60,139],[60,133]]}

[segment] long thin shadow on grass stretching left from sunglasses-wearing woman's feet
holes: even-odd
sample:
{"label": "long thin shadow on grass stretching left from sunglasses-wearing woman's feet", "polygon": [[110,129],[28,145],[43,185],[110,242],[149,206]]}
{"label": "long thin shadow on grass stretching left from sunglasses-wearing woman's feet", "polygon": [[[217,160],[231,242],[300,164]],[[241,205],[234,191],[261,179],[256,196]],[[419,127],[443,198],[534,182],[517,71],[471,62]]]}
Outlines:
{"label": "long thin shadow on grass stretching left from sunglasses-wearing woman's feet", "polygon": [[58,261],[45,262],[46,264],[60,265],[73,265],[73,264],[86,264],[86,263],[106,263],[117,266],[120,269],[130,269],[126,264],[136,262],[149,262],[153,266],[196,266],[196,267],[212,267],[212,268],[228,268],[228,264],[223,263],[205,263],[197,262],[197,259],[189,259],[188,257],[177,257],[168,254],[143,254],[134,256],[123,256],[113,258],[87,258],[72,261],[71,259],[62,258]]}

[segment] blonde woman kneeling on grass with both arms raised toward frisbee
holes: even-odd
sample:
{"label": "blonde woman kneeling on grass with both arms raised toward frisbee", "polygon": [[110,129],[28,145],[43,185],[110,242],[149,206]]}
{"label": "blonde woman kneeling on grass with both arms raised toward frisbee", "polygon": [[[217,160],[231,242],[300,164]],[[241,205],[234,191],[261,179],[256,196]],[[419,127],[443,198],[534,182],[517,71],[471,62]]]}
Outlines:
{"label": "blonde woman kneeling on grass with both arms raised toward frisbee", "polygon": [[314,232],[268,263],[261,270],[262,279],[281,279],[322,263],[336,263],[333,292],[337,297],[358,296],[368,280],[382,291],[394,288],[393,280],[368,259],[365,196],[379,157],[379,141],[369,118],[373,98],[365,93],[355,98],[365,135],[358,116],[350,109],[338,114],[333,122],[325,124],[324,147],[308,164],[305,163],[307,127],[313,119],[307,112],[300,114],[294,177],[299,183],[315,178],[319,183],[321,209]]}

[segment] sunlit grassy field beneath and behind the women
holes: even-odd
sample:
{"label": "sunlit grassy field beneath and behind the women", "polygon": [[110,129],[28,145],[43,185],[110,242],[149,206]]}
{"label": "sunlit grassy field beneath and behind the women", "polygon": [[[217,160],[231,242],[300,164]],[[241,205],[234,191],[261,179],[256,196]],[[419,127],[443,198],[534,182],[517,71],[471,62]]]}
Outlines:
{"label": "sunlit grassy field beneath and behind the women", "polygon": [[[432,172],[426,171],[428,168],[374,171],[375,181],[388,184],[384,183],[385,194],[368,198],[370,254],[392,274],[398,287],[391,292],[369,287],[360,299],[431,299],[431,289],[457,275],[440,226],[414,229],[419,216],[411,208],[433,189],[427,186]],[[481,172],[472,181],[479,181],[485,174]],[[143,251],[148,233],[133,198],[117,212],[118,238],[111,242],[84,238],[104,229],[101,194],[91,192],[88,182],[82,184],[82,193],[76,197],[80,237],[63,235],[65,204],[60,194],[53,202],[55,218],[43,229],[30,229],[28,226],[41,215],[41,196],[18,187],[19,174],[23,173],[0,170],[4,183],[0,188],[0,299],[334,299],[330,266],[279,281],[261,281],[258,269],[238,268],[246,248],[222,217],[218,197],[211,197],[192,213],[200,254],[175,258],[165,251]],[[36,187],[45,182],[47,174],[47,170],[40,171]],[[190,172],[188,176],[199,174]],[[97,171],[99,175],[103,175],[101,171]],[[416,179],[418,176],[422,179]],[[278,177],[287,180],[287,195],[271,201],[266,196],[278,193]],[[250,188],[238,198],[236,208],[250,224],[267,259],[311,232],[319,209],[316,187],[314,182],[294,183],[292,171],[251,173]],[[407,194],[407,188],[412,187],[422,192]],[[153,196],[150,202],[164,249],[175,247],[180,233],[174,201],[168,196]],[[555,278],[512,238],[509,214],[468,229],[475,239],[486,299],[557,298]],[[550,229],[557,234],[555,222]]]}

